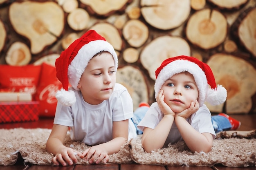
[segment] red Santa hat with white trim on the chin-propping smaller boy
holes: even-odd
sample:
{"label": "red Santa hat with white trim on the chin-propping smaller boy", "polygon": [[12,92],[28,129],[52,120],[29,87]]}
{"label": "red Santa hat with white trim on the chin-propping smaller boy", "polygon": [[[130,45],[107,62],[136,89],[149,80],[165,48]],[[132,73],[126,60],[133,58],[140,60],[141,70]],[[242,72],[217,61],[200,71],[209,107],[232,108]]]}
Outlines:
{"label": "red Santa hat with white trim on the chin-propping smaller boy", "polygon": [[216,86],[210,66],[195,57],[184,55],[168,58],[157,68],[155,71],[155,97],[157,97],[166,80],[184,71],[191,73],[195,79],[199,91],[198,102],[200,107],[205,101],[211,105],[222,104],[226,101],[227,90],[221,85]]}

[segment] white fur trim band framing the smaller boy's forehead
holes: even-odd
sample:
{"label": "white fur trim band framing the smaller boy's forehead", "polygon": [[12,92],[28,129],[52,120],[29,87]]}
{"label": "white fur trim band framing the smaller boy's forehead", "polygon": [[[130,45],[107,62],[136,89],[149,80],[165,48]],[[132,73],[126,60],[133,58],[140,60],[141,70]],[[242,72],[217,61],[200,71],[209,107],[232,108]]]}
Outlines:
{"label": "white fur trim band framing the smaller boy's forehead", "polygon": [[184,71],[191,73],[195,79],[195,83],[199,91],[198,102],[199,106],[201,107],[207,97],[207,78],[204,74],[204,71],[202,71],[202,69],[197,64],[188,60],[175,60],[162,68],[157,76],[157,79],[155,80],[155,98],[157,97],[157,94],[159,93],[166,80],[168,80],[173,75],[182,73]]}

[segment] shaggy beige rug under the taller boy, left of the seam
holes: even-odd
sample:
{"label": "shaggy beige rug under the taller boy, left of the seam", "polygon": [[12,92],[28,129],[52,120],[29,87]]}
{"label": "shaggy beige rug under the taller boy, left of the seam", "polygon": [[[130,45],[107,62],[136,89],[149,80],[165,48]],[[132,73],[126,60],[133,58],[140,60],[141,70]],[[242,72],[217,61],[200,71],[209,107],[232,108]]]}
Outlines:
{"label": "shaggy beige rug under the taller boy, left of the seam", "polygon": [[[36,165],[51,165],[52,154],[45,150],[46,141],[51,133],[50,129],[0,129],[0,165],[13,165],[18,156],[24,159],[25,163]],[[71,141],[69,133],[65,140],[65,146],[72,147],[82,152],[89,148],[83,143]],[[127,142],[121,150],[110,155],[108,163],[131,163],[130,143]],[[79,159],[77,164],[89,164],[88,161]]]}

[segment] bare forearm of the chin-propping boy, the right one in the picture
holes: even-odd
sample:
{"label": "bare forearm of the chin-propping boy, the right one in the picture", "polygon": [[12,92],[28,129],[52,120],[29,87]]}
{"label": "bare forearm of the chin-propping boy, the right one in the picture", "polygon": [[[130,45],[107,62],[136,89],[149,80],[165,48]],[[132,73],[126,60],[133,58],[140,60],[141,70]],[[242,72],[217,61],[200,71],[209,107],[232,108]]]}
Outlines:
{"label": "bare forearm of the chin-propping boy, the right one in the picture", "polygon": [[184,117],[175,116],[175,124],[180,134],[192,152],[209,152],[213,138],[210,133],[200,133],[195,130]]}

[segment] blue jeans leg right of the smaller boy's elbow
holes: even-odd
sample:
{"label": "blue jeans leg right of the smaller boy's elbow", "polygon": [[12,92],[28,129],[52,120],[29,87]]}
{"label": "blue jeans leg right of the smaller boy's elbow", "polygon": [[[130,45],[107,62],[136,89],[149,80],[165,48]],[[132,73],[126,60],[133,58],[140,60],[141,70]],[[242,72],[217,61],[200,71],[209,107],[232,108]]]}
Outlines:
{"label": "blue jeans leg right of the smaller boy's elbow", "polygon": [[224,131],[224,130],[230,130],[232,127],[229,122],[229,119],[227,119],[224,116],[220,116],[220,115],[212,116],[211,122],[213,124],[213,128],[216,133]]}

